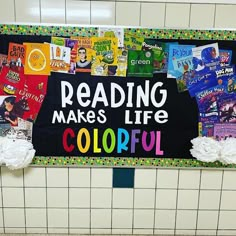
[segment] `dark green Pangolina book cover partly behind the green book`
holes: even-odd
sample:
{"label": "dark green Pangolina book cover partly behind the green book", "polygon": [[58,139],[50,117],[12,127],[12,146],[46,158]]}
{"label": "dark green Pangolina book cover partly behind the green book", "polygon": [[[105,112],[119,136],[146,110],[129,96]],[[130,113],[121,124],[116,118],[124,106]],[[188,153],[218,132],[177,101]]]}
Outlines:
{"label": "dark green Pangolina book cover partly behind the green book", "polygon": [[153,73],[167,73],[169,45],[157,39],[144,39],[142,50],[153,51]]}

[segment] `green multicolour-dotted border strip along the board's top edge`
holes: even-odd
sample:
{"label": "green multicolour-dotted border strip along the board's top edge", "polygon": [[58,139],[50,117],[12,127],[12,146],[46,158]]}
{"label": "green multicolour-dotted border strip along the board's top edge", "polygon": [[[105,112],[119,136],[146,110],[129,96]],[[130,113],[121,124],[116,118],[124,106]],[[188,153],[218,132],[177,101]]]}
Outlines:
{"label": "green multicolour-dotted border strip along the board's top edge", "polygon": [[[125,33],[158,39],[236,40],[234,30],[126,28]],[[98,27],[1,24],[0,34],[91,37],[98,35]]]}

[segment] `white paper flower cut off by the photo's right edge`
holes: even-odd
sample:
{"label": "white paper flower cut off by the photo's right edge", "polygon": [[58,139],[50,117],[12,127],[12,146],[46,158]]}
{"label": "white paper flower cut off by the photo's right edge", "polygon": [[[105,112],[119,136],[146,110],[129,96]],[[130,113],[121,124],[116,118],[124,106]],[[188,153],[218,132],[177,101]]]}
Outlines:
{"label": "white paper flower cut off by the photo's right edge", "polygon": [[224,164],[236,164],[236,138],[221,141],[220,161]]}

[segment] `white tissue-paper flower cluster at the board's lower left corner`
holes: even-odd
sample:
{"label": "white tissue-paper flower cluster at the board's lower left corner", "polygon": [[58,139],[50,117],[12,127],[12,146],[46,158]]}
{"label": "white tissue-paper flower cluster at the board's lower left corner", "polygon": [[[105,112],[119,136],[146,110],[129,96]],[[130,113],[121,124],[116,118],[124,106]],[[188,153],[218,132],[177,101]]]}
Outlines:
{"label": "white tissue-paper flower cluster at the board's lower left corner", "polygon": [[22,139],[0,137],[0,163],[9,169],[28,166],[35,155],[32,143]]}

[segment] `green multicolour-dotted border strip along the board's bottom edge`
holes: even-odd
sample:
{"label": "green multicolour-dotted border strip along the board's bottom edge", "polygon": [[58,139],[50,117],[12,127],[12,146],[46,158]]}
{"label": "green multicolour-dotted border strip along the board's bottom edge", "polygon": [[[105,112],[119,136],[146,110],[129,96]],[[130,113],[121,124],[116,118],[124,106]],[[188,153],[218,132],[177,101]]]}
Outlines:
{"label": "green multicolour-dotted border strip along the board's bottom edge", "polygon": [[205,163],[194,159],[133,157],[43,157],[36,156],[31,165],[80,167],[195,167],[235,168],[236,164]]}

